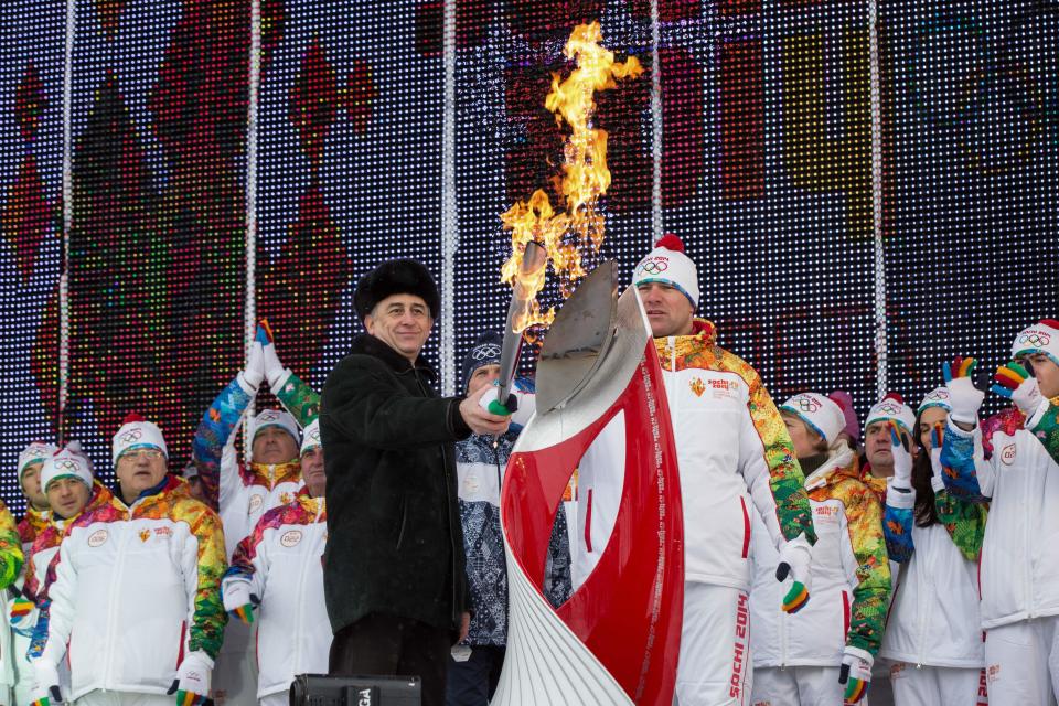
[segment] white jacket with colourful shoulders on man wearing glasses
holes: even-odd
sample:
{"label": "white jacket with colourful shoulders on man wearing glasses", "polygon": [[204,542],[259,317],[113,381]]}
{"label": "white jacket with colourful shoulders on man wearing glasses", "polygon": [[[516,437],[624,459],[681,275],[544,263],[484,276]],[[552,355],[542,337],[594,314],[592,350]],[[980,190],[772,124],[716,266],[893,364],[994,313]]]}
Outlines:
{"label": "white jacket with colourful shoulders on man wearing glasses", "polygon": [[221,521],[184,481],[168,477],[128,506],[115,498],[67,527],[31,654],[58,665],[68,651],[68,698],[165,694],[185,654],[221,649],[225,568]]}

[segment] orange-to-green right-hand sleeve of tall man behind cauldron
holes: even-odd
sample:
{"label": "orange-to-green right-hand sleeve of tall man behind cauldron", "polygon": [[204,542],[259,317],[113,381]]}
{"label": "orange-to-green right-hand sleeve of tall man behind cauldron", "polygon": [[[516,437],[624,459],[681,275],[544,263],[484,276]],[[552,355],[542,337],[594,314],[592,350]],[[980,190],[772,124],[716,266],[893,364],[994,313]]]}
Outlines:
{"label": "orange-to-green right-hand sleeve of tall man behind cauldron", "polygon": [[[747,367],[749,368],[749,365]],[[780,418],[772,397],[761,384],[761,378],[752,368],[750,372],[752,375],[744,374],[744,379],[747,379],[750,386],[750,400],[747,406],[764,450],[769,489],[775,502],[780,531],[788,541],[805,533],[810,544],[815,544],[816,532],[813,528],[809,495],[805,493],[805,477],[794,457],[791,437],[787,434],[787,426]]]}

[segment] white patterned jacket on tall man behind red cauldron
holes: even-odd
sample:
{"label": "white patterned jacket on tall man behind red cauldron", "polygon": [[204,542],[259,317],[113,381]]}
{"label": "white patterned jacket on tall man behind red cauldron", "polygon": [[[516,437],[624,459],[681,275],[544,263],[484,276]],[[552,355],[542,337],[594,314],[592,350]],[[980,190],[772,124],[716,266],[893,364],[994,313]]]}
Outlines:
{"label": "white patterned jacket on tall man behind red cauldron", "polygon": [[[681,474],[685,580],[749,590],[752,507],[777,548],[802,533],[815,542],[812,512],[787,427],[758,373],[717,345],[713,323],[694,325],[689,335],[654,340]],[[624,470],[619,419],[578,467],[575,587],[614,525]]]}

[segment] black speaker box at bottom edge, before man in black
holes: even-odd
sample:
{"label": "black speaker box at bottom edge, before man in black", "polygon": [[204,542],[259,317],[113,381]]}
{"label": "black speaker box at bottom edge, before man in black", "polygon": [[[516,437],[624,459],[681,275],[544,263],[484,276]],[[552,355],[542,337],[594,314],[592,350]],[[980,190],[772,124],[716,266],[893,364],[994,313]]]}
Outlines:
{"label": "black speaker box at bottom edge, before man in black", "polygon": [[290,706],[419,706],[418,676],[328,676],[299,674]]}

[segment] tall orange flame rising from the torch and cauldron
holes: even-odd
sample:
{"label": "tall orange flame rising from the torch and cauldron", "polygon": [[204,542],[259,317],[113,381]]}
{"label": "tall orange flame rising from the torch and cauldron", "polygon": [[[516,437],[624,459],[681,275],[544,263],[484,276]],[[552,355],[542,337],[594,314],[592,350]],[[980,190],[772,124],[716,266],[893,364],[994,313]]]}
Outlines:
{"label": "tall orange flame rising from the torch and cauldron", "polygon": [[[538,189],[528,201],[518,201],[501,215],[504,229],[511,231],[512,244],[501,281],[511,284],[521,307],[512,320],[515,332],[547,327],[555,319],[555,309],[542,312],[536,300],[544,288],[548,260],[559,278],[560,293],[569,297],[577,280],[587,275],[581,267],[582,253],[596,255],[603,242],[605,221],[597,203],[610,186],[610,170],[607,131],[589,125],[596,113],[593,94],[616,87],[616,79],[635,78],[643,67],[634,56],[614,62],[614,53],[601,41],[599,22],[574,28],[563,53],[576,60],[577,67],[561,82],[558,73],[552,74],[552,90],[544,103],[558,126],[565,121],[573,129],[564,146],[563,176],[558,181],[566,207],[556,212],[547,194]],[[547,258],[541,267],[523,271],[523,253],[530,242],[544,246]]]}

